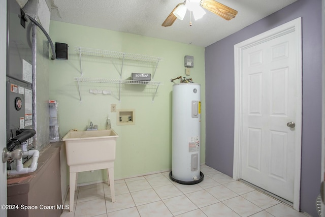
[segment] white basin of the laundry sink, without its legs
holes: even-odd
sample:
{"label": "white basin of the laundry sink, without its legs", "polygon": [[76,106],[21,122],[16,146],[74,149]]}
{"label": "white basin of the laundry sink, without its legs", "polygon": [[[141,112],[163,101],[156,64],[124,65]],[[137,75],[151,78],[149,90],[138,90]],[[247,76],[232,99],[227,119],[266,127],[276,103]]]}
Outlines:
{"label": "white basin of the laundry sink, without its legs", "polygon": [[69,131],[62,139],[68,166],[114,161],[117,137],[114,130]]}

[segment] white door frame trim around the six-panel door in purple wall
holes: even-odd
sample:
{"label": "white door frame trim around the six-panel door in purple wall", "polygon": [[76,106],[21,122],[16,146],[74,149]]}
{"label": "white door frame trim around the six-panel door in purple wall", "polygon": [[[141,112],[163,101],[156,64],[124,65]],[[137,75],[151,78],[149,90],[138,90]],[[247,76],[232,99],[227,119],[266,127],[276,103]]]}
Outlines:
{"label": "white door frame trim around the six-panel door in purple wall", "polygon": [[301,17],[268,30],[265,33],[247,39],[234,46],[235,51],[235,126],[234,126],[234,167],[233,178],[241,178],[241,138],[242,138],[242,55],[246,48],[261,44],[271,39],[280,37],[287,33],[296,33],[297,42],[297,107],[296,112],[296,151],[295,151],[295,183],[294,183],[294,209],[299,211],[300,205],[300,175],[301,175],[301,123],[302,123],[302,38]]}

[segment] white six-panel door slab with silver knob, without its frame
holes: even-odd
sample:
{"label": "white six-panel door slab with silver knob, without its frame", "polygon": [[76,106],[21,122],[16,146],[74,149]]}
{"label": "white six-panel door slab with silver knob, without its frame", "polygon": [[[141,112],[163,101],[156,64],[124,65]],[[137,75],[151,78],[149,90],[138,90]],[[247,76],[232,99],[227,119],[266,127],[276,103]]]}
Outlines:
{"label": "white six-panel door slab with silver knob, without its frame", "polygon": [[288,33],[243,52],[242,179],[294,199],[296,41]]}

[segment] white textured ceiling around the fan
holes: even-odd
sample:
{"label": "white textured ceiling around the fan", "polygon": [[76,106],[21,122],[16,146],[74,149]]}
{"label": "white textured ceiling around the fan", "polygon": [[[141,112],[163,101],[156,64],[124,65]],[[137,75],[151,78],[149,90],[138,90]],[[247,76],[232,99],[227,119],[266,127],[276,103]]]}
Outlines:
{"label": "white textured ceiling around the fan", "polygon": [[[206,10],[189,26],[189,11],[172,26],[161,23],[178,0],[52,0],[51,20],[110,29],[206,47],[297,0],[220,0],[238,11],[230,20]],[[58,9],[55,9],[55,8]]]}

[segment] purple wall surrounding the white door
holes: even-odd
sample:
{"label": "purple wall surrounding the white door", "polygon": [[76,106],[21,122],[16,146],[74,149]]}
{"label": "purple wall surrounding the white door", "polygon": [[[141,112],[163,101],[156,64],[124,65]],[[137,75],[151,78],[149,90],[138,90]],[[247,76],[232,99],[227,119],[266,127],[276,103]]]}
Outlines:
{"label": "purple wall surrounding the white door", "polygon": [[318,216],[315,199],[321,166],[321,0],[299,0],[206,47],[206,164],[233,175],[234,45],[298,17],[302,17],[303,44],[300,208]]}

